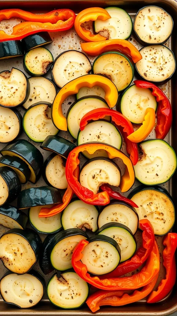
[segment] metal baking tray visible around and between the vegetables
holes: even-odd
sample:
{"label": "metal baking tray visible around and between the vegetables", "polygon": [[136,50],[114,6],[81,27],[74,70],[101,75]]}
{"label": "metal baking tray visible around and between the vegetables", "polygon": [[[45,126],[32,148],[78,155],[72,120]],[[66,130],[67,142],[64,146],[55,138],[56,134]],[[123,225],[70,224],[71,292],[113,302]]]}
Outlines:
{"label": "metal baking tray visible around and between the vegetables", "polygon": [[[145,5],[157,5],[162,7],[163,9],[166,9],[169,14],[172,15],[174,20],[174,29],[172,36],[168,40],[168,42],[165,44],[167,47],[169,47],[175,54],[175,57],[177,58],[177,47],[176,47],[176,30],[177,30],[177,2],[175,0],[149,0],[149,1],[142,1],[142,0],[117,0],[117,1],[111,1],[111,0],[97,0],[97,1],[91,1],[91,0],[65,0],[65,1],[54,1],[54,0],[0,0],[0,9],[7,9],[7,8],[20,8],[24,10],[29,10],[34,13],[45,13],[49,12],[54,9],[60,9],[60,8],[69,8],[73,9],[76,13],[78,10],[82,10],[85,8],[97,6],[97,7],[107,7],[107,6],[120,6],[123,9],[125,9],[134,19],[134,16],[138,9]],[[12,27],[20,23],[21,19],[11,19],[10,21],[1,21],[0,29],[4,29],[6,32],[11,33]],[[68,30],[66,32],[58,32],[58,33],[50,33],[51,38],[53,39],[53,44],[47,46],[49,50],[52,52],[54,58],[56,58],[61,52],[71,49],[76,49],[78,51],[82,51],[80,47],[80,43],[82,40],[78,38],[76,32],[74,29]],[[137,43],[134,40],[133,35],[130,37],[129,41],[133,43],[138,49],[140,49],[142,46]],[[90,58],[90,57],[89,57]],[[22,60],[23,58],[14,58],[9,60],[3,60],[0,61],[0,71],[11,69],[12,67],[17,67],[20,70],[23,70],[22,66]],[[93,62],[94,58],[90,58],[91,62]],[[29,77],[29,75],[27,75]],[[47,77],[51,78],[50,74],[47,74]],[[176,114],[176,104],[177,104],[177,93],[176,93],[176,72],[172,77],[172,80],[170,80],[165,85],[161,86],[160,88],[163,89],[163,91],[167,94],[168,98],[171,100],[172,108],[173,108],[173,125],[171,128],[170,133],[168,133],[168,136],[165,138],[165,140],[172,145],[172,147],[177,150],[177,142],[176,142],[176,135],[177,135],[177,114]],[[63,104],[63,113],[66,115],[67,109],[71,105],[71,102],[73,102],[74,96],[69,97],[67,100],[65,100]],[[20,112],[23,114],[25,111],[23,108],[18,108]],[[60,132],[60,136],[65,137],[69,140],[72,140],[69,136],[68,132]],[[40,143],[34,143],[32,142],[25,133],[21,134],[19,139],[27,139],[31,143],[33,143],[39,150],[42,152],[44,159],[47,158],[47,156],[50,154],[50,152],[40,149]],[[155,132],[152,131],[149,138],[155,138]],[[3,144],[0,144],[0,148],[3,148]],[[123,143],[122,150],[125,151],[125,145]],[[83,164],[84,159],[81,160],[81,164]],[[120,165],[120,161],[119,162]],[[120,166],[123,171],[123,165]],[[177,205],[177,194],[176,194],[176,173],[173,176],[173,179],[168,181],[168,183],[163,184],[162,186],[165,187],[169,193],[172,195],[174,199],[174,204]],[[39,179],[36,185],[31,185],[29,182],[25,185],[22,185],[22,190],[25,188],[29,188],[31,186],[41,186],[46,185],[43,179]],[[135,186],[140,185],[138,181],[135,181]],[[128,192],[129,193],[129,192]],[[125,193],[127,196],[128,193]],[[16,201],[12,203],[13,205],[16,205]],[[28,225],[30,227],[30,225]],[[176,229],[176,225],[174,225],[174,231]],[[4,228],[0,225],[0,234],[7,231],[8,228]],[[46,235],[45,235],[46,236]],[[42,240],[45,237],[43,234],[40,234],[40,237]],[[141,233],[140,231],[137,232],[135,235],[138,244],[140,244],[141,241]],[[157,284],[160,282],[160,280],[165,276],[165,270],[163,268],[163,260],[162,260],[162,252],[163,252],[163,244],[162,240],[163,237],[156,237],[157,243],[159,246],[159,251],[161,253],[161,269],[160,269],[160,275],[159,279],[157,280]],[[41,272],[39,265],[37,264],[35,266],[35,270],[38,270]],[[4,268],[2,262],[0,262],[0,276],[3,275],[3,273],[6,271]],[[41,272],[42,273],[42,272]],[[45,276],[46,282],[48,282],[51,275],[53,275],[54,272],[50,273],[49,275]],[[143,299],[141,301],[138,301],[133,304],[120,306],[120,307],[101,307],[98,312],[95,314],[98,316],[134,316],[134,315],[169,315],[177,311],[177,286],[175,284],[173,291],[160,303],[157,304],[146,304],[146,300]],[[76,310],[62,310],[55,307],[52,303],[49,302],[47,299],[47,296],[44,296],[43,300],[34,308],[31,309],[18,309],[16,307],[10,306],[8,304],[5,304],[0,297],[0,316],[5,315],[34,315],[34,316],[41,316],[41,315],[48,315],[48,316],[54,316],[54,315],[68,315],[68,316],[88,316],[93,314],[86,305],[82,307],[82,309],[76,309]]]}

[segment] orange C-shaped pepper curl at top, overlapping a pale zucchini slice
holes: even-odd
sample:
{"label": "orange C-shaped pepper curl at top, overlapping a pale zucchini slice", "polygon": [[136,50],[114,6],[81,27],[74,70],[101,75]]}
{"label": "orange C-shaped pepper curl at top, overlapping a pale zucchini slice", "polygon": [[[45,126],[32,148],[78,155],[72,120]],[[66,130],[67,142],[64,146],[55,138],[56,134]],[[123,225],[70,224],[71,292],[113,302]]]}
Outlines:
{"label": "orange C-shaped pepper curl at top, overlapping a pale zucchini slice", "polygon": [[76,16],[76,20],[74,22],[74,27],[76,30],[77,35],[85,40],[86,42],[93,42],[93,41],[100,41],[106,40],[107,38],[100,35],[100,34],[92,34],[90,31],[86,30],[85,28],[81,27],[81,24],[88,21],[96,21],[97,19],[101,21],[106,21],[110,19],[111,15],[102,8],[88,8],[84,9],[83,11],[79,12]]}

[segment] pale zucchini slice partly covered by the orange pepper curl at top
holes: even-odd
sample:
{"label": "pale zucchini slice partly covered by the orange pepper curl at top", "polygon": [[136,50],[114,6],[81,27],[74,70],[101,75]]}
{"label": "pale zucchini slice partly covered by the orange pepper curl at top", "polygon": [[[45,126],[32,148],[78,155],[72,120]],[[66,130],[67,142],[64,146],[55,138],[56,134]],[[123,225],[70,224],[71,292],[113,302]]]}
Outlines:
{"label": "pale zucchini slice partly covered by the orange pepper curl at top", "polygon": [[105,10],[109,13],[111,19],[106,21],[97,19],[94,22],[95,32],[107,37],[107,40],[127,40],[133,28],[130,15],[125,10],[117,7],[107,7]]}

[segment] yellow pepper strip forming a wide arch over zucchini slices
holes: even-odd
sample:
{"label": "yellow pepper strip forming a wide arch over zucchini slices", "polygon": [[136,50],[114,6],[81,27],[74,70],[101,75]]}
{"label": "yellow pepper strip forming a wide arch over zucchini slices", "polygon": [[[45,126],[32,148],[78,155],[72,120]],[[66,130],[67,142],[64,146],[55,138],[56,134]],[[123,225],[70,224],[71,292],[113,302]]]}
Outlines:
{"label": "yellow pepper strip forming a wide arch over zucchini slices", "polygon": [[77,94],[80,88],[99,86],[105,91],[105,100],[109,107],[114,107],[118,99],[115,84],[108,78],[99,75],[84,75],[78,77],[60,89],[52,105],[52,121],[56,128],[67,131],[67,121],[62,113],[62,103],[71,94]]}

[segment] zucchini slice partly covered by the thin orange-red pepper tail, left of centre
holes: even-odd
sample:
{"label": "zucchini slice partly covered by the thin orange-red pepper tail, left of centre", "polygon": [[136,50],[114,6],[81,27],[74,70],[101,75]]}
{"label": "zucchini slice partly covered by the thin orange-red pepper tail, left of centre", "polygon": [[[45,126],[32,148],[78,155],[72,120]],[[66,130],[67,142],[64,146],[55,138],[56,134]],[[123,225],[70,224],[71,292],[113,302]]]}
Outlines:
{"label": "zucchini slice partly covered by the thin orange-red pepper tail, left of centre", "polygon": [[42,234],[57,233],[61,229],[61,213],[51,217],[39,217],[39,212],[42,207],[52,207],[52,205],[31,207],[28,213],[31,226]]}

